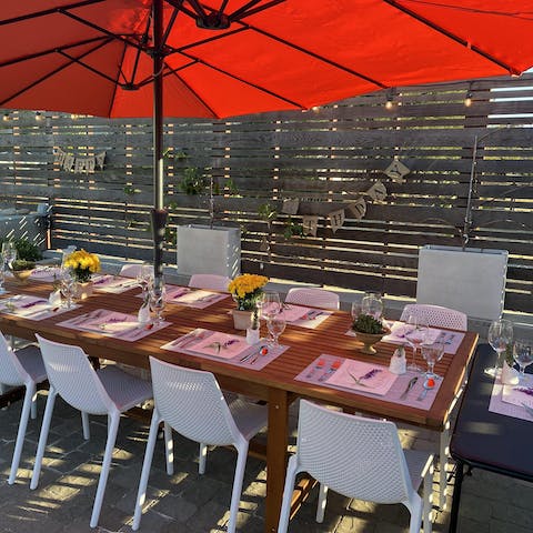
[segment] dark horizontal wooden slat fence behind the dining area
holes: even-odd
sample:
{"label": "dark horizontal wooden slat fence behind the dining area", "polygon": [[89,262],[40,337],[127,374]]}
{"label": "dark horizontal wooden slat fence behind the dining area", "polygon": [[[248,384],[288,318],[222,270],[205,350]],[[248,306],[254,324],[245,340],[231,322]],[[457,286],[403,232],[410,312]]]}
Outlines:
{"label": "dark horizontal wooden slat fence behind the dining area", "polygon": [[[469,90],[473,102],[465,107]],[[209,197],[180,190],[184,169],[197,168],[220,192],[214,223],[243,231],[243,271],[414,295],[419,248],[465,241],[477,135],[467,245],[510,251],[505,306],[533,312],[533,76],[399,88],[392,110],[385,99],[376,92],[304,112],[169,119],[165,260],[175,260],[178,224],[210,223]],[[11,112],[0,123],[0,201],[49,202],[53,247],[151,258],[151,122],[34,117]],[[80,158],[105,151],[105,168],[67,172],[53,162],[54,148]],[[410,169],[403,182],[384,174],[394,158]],[[386,198],[366,198],[364,218],[348,218],[333,232],[325,215],[375,181],[385,184]],[[280,212],[284,199],[305,201],[302,210],[321,215],[316,237],[286,239],[288,215],[270,228],[259,217],[264,203]]]}

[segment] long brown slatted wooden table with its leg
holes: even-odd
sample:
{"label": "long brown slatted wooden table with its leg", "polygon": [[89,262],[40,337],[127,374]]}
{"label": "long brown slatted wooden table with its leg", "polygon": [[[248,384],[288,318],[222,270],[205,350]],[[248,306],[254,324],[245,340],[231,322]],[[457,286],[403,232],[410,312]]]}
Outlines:
{"label": "long brown slatted wooden table with its leg", "polygon": [[[30,282],[27,285],[14,285],[8,282],[7,288],[13,292],[40,296],[48,296],[51,289],[49,283],[38,282]],[[222,388],[238,393],[250,394],[268,402],[268,479],[264,526],[264,531],[268,533],[276,531],[278,527],[286,469],[288,411],[294,399],[319,400],[344,409],[443,432],[446,429],[451,405],[461,386],[467,362],[477,341],[476,333],[467,332],[456,354],[453,356],[445,354],[441,362],[436,364],[435,371],[444,376],[443,383],[431,409],[421,410],[388,402],[379,398],[368,398],[320,384],[310,384],[294,380],[295,375],[323,353],[385,365],[389,363],[393,351],[398,346],[380,343],[378,344],[379,353],[376,355],[364,355],[358,350],[358,348],[361,348],[361,344],[355,339],[345,335],[351,318],[348,313],[340,311],[333,313],[315,330],[288,325],[281,336],[281,342],[289,345],[290,349],[261,371],[241,369],[223,361],[212,361],[160,349],[164,343],[199,326],[235,333],[230,314],[234,306],[231,298],[210,305],[204,310],[169,304],[164,316],[165,320],[172,322],[172,325],[135,342],[127,342],[57,325],[69,318],[94,309],[137,313],[140,305],[140,299],[134,298],[137,294],[139,294],[139,289],[132,289],[123,294],[95,292],[93,296],[81,302],[80,309],[42,321],[31,321],[0,313],[0,330],[4,334],[13,334],[30,340],[33,340],[34,333],[38,332],[58,342],[78,344],[89,355],[114,360],[143,369],[149,368],[149,355],[154,355],[171,363],[213,372]],[[420,360],[419,363],[423,364],[424,362]]]}

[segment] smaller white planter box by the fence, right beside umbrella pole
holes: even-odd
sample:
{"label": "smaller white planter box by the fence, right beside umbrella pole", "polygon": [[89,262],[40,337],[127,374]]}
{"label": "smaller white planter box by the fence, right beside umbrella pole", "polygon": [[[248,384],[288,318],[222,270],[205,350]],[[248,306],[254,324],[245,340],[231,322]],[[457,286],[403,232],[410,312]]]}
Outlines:
{"label": "smaller white planter box by the fence, right beside umbrella pole", "polygon": [[241,270],[241,230],[178,227],[178,273],[234,278]]}

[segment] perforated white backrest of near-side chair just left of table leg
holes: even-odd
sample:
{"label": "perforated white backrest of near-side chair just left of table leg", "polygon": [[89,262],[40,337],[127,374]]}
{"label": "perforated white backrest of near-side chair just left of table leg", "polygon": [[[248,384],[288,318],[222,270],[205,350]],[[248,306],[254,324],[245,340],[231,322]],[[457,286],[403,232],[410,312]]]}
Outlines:
{"label": "perforated white backrest of near-side chair just left of table leg", "polygon": [[178,433],[210,445],[238,442],[241,433],[212,373],[155,358],[150,368],[155,409]]}

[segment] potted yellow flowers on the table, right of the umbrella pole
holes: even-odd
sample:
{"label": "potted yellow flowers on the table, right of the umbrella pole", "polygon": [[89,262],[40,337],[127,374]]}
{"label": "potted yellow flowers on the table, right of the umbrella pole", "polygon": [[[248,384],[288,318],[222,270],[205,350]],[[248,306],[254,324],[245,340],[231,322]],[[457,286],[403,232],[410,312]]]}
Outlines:
{"label": "potted yellow flowers on the table, right of the umbrella pole", "polygon": [[235,329],[247,330],[257,325],[259,302],[268,282],[266,276],[258,274],[241,274],[230,282],[228,291],[237,302],[237,312],[233,312]]}

